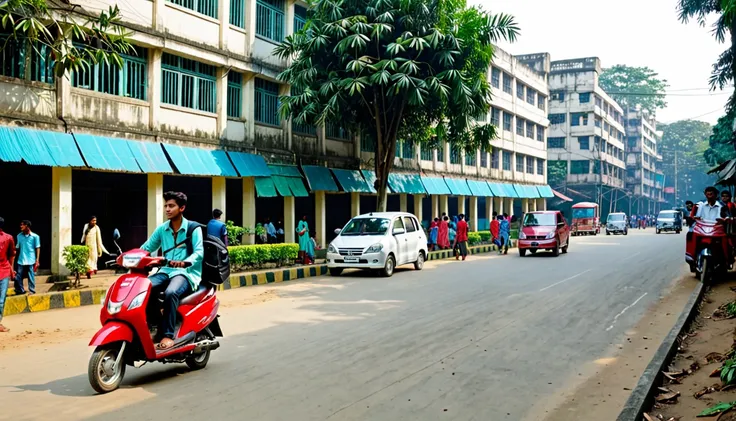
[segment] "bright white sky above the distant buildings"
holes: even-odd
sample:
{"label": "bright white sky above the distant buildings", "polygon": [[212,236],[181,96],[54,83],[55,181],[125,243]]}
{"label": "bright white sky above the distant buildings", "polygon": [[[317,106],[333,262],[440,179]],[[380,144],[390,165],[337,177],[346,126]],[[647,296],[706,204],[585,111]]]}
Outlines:
{"label": "bright white sky above the distant buildings", "polygon": [[[670,85],[657,120],[715,123],[732,89],[710,92],[711,66],[725,44],[710,26],[677,19],[677,0],[468,0],[492,13],[510,13],[521,28],[511,54],[548,52],[552,60],[595,56],[604,68],[648,66]],[[695,90],[693,90],[695,89]],[[686,90],[686,91],[684,91]]]}

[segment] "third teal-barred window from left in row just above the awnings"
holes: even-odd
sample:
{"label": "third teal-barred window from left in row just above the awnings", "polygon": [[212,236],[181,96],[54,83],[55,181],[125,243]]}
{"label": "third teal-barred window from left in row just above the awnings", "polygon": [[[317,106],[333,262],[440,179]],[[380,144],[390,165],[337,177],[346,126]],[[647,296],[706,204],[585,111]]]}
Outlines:
{"label": "third teal-barred window from left in row just above the awnings", "polygon": [[215,66],[164,53],[161,57],[161,102],[195,110],[216,112]]}

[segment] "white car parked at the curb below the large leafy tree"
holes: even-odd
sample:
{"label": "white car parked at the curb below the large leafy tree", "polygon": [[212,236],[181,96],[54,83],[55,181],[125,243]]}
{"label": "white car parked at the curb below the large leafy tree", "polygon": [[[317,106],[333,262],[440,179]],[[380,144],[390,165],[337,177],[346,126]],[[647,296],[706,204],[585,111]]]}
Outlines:
{"label": "white car parked at the curb below the large leafy tree", "polygon": [[356,216],[336,229],[327,248],[330,274],[343,269],[378,269],[391,276],[396,266],[414,264],[422,270],[427,259],[427,236],[417,217],[406,212],[373,212]]}

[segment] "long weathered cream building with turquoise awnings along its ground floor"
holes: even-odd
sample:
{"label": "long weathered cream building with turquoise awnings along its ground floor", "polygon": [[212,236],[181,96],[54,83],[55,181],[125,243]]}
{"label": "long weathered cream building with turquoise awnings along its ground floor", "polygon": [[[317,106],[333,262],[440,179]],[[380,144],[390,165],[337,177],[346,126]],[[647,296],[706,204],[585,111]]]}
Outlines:
{"label": "long weathered cream building with turquoise awnings along its ground floor", "polygon": [[[22,180],[6,192],[19,199],[0,203],[0,215],[10,224],[33,221],[51,245],[42,249],[43,268],[62,270],[63,246],[91,214],[123,231],[123,247],[139,246],[163,222],[167,190],[189,195],[191,219],[204,222],[213,208],[246,227],[270,217],[286,241],[306,215],[323,245],[333,228],[370,209],[367,139],[278,113],[289,87],[277,75],[288,61],[272,51],[305,24],[306,3],[96,0],[73,13],[95,15],[116,3],[136,47],[121,68],[98,64],[56,78],[43,48],[34,49],[30,72],[19,64],[24,48],[6,46],[0,56],[0,178]],[[487,121],[498,122],[500,135],[493,150],[402,143],[390,209],[420,218],[427,209],[426,220],[456,196],[457,211],[467,209],[478,227],[494,209],[544,206],[547,85],[497,54],[488,73],[495,99]]]}

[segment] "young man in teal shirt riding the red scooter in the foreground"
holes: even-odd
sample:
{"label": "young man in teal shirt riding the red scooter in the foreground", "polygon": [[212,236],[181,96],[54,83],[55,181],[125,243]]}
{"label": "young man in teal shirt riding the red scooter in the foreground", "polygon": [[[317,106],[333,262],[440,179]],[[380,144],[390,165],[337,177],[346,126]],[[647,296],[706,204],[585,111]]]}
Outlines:
{"label": "young man in teal shirt riding the red scooter in the foreground", "polygon": [[[189,227],[189,221],[183,216],[187,196],[181,192],[170,191],[164,193],[164,201],[168,221],[159,225],[148,241],[141,246],[149,253],[164,250],[165,255],[162,257],[169,261],[167,267],[162,267],[158,273],[149,276],[152,284],[151,297],[157,297],[164,291],[164,311],[158,328],[157,339],[160,339],[160,342],[156,345],[157,349],[167,349],[174,344],[176,309],[182,298],[199,288],[204,257],[201,229],[195,229],[191,234],[192,254],[188,255],[184,244]],[[185,267],[187,263],[191,263],[191,266]],[[147,309],[148,320],[156,320],[158,311],[158,300],[150,299]]]}

